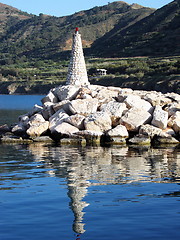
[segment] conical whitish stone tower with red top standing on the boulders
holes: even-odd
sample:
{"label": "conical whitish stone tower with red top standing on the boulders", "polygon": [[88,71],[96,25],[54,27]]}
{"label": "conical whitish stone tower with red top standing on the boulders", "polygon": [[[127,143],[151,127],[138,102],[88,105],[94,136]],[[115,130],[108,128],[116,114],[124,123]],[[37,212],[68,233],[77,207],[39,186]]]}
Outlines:
{"label": "conical whitish stone tower with red top standing on the boulders", "polygon": [[78,28],[76,28],[73,36],[71,59],[69,63],[66,84],[77,86],[85,86],[90,84],[88,81],[86,64],[83,55],[81,35],[78,32]]}

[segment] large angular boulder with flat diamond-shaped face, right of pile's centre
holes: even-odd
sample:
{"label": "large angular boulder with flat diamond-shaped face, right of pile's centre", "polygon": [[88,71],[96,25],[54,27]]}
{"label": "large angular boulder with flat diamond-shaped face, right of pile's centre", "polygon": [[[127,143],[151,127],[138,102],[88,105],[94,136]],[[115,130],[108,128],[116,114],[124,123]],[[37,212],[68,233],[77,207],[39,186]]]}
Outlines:
{"label": "large angular boulder with flat diamond-shaped face, right of pile's centre", "polygon": [[144,109],[131,108],[120,119],[120,124],[124,125],[128,131],[138,131],[143,124],[150,123],[152,116]]}

